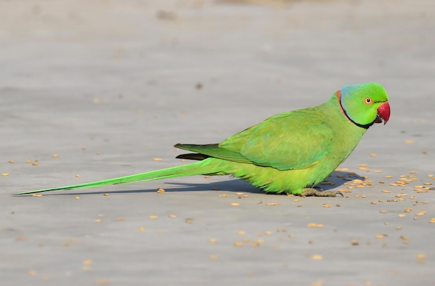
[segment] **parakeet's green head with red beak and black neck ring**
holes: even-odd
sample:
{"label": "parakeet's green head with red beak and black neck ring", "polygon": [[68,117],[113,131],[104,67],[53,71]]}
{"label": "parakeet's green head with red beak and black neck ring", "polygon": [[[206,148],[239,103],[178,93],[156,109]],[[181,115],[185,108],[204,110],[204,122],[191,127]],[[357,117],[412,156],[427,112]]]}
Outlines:
{"label": "parakeet's green head with red beak and black neck ring", "polygon": [[348,85],[336,92],[340,109],[354,124],[369,128],[375,123],[387,123],[390,105],[384,87],[379,83]]}

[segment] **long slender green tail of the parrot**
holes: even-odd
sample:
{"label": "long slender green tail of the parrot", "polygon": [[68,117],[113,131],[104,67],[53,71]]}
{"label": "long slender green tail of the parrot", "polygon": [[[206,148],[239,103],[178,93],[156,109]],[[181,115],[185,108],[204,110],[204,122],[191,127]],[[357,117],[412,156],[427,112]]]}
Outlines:
{"label": "long slender green tail of the parrot", "polygon": [[[15,195],[34,194],[34,193],[50,192],[50,191],[56,191],[56,190],[82,189],[85,187],[99,187],[99,186],[104,186],[104,185],[129,184],[129,183],[142,182],[145,180],[159,180],[159,179],[163,179],[163,178],[175,178],[175,177],[181,177],[181,176],[212,174],[212,173],[215,173],[216,171],[214,170],[215,164],[213,164],[213,158],[210,158],[210,159],[203,160],[203,161],[196,162],[196,163],[192,163],[192,164],[188,164],[188,165],[171,167],[171,168],[161,169],[161,170],[156,170],[156,171],[149,171],[146,173],[141,173],[141,174],[136,174],[136,175],[124,176],[124,177],[119,177],[119,178],[111,178],[111,179],[107,179],[107,180],[97,180],[95,182],[83,183],[83,184],[77,184],[77,185],[69,185],[69,186],[64,186],[64,187],[53,187],[50,189],[19,192]],[[210,163],[212,163],[212,164],[210,164]]]}

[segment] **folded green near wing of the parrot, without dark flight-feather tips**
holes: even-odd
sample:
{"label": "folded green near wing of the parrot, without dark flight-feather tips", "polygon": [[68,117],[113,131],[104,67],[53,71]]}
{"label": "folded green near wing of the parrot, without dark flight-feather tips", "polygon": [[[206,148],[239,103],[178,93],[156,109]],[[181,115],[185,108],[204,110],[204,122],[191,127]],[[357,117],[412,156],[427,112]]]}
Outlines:
{"label": "folded green near wing of the parrot, without dark flight-feather tips", "polygon": [[219,144],[256,165],[279,170],[304,169],[331,152],[334,132],[319,110],[284,112],[247,128]]}

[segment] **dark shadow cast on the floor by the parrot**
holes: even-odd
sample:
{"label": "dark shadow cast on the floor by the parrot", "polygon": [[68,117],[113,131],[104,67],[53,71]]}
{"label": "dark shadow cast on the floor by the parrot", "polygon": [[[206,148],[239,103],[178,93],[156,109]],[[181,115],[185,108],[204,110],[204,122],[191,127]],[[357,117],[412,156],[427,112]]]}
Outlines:
{"label": "dark shadow cast on the floor by the parrot", "polygon": [[[342,186],[350,180],[365,180],[358,174],[350,174],[347,171],[334,171],[322,183],[318,184],[322,190],[331,190]],[[212,183],[164,183],[165,185],[174,185],[177,187],[165,188],[165,192],[204,192],[209,190],[223,190],[226,192],[246,192],[251,194],[274,194],[266,193],[258,187],[254,187],[244,180],[224,180]],[[137,190],[115,190],[115,191],[97,191],[97,192],[65,192],[65,193],[49,193],[44,196],[75,196],[85,194],[136,194],[136,193],[154,193],[156,189],[137,189]],[[281,193],[285,194],[285,193]],[[281,195],[279,194],[279,195]],[[274,194],[277,195],[277,194]]]}

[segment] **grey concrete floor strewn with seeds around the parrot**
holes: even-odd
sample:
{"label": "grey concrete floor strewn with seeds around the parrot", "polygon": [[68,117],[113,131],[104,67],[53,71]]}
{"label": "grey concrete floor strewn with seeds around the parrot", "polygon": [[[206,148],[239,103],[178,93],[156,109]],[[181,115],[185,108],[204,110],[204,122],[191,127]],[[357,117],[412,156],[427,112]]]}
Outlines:
{"label": "grey concrete floor strewn with seeds around the parrot", "polygon": [[[1,285],[434,285],[435,3],[255,2],[0,2]],[[391,119],[324,186],[345,198],[204,176],[13,196],[184,164],[175,143],[368,81]]]}

